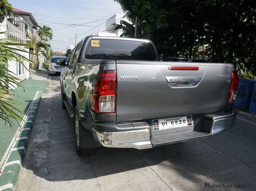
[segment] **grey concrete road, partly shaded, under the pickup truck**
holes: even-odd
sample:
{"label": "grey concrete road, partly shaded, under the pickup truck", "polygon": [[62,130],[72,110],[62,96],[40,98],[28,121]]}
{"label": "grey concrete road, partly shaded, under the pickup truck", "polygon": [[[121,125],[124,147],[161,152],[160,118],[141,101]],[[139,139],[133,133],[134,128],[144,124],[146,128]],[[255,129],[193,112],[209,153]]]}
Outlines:
{"label": "grey concrete road, partly shaded, under the pickup truck", "polygon": [[[17,191],[256,189],[255,122],[237,118],[236,128],[208,139],[147,150],[102,147],[95,156],[80,158],[73,122],[61,107],[59,76],[49,78]],[[205,188],[207,183],[232,188]]]}

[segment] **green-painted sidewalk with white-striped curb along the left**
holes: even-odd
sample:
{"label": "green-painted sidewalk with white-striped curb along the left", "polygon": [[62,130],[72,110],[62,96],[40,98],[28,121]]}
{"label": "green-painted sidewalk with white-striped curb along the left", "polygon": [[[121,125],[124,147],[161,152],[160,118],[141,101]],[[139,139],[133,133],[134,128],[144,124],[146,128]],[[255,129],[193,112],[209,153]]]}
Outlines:
{"label": "green-painted sidewalk with white-striped curb along the left", "polygon": [[[0,120],[0,190],[2,190],[1,187],[3,185],[6,185],[6,183],[8,182],[9,184],[13,184],[14,181],[15,185],[15,180],[12,179],[18,178],[17,173],[19,173],[22,159],[25,156],[25,150],[29,141],[30,130],[32,128],[32,124],[36,115],[37,108],[39,106],[41,96],[43,93],[48,93],[48,73],[47,75],[46,73],[43,73],[43,75],[41,76],[34,75],[33,73],[31,74],[31,76],[33,79],[27,79],[21,82],[25,89],[25,92],[22,87],[18,87],[16,93],[19,96],[12,96],[12,99],[21,102],[22,106],[20,106],[19,108],[24,110],[24,114],[27,112],[26,114],[29,116],[27,117],[26,115],[21,114],[21,117],[25,116],[23,117],[23,119],[26,121],[25,123],[21,123],[23,125],[23,128],[19,128],[19,124],[15,120],[12,120],[15,124],[12,126],[12,129],[9,125],[5,125],[5,122],[3,120]],[[34,76],[36,76],[35,78],[40,79],[46,78],[46,80],[35,80]],[[28,129],[29,133],[26,133],[26,131],[22,131],[25,130],[24,128]],[[18,137],[16,137],[17,135]],[[6,163],[9,164],[6,165]]]}

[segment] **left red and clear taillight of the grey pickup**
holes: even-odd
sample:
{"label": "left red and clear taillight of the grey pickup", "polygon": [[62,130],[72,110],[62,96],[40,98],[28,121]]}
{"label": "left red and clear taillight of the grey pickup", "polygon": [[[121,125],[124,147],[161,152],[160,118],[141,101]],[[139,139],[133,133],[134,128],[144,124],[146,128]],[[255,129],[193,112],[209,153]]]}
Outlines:
{"label": "left red and clear taillight of the grey pickup", "polygon": [[91,110],[96,113],[116,113],[116,88],[116,70],[103,70],[92,88]]}

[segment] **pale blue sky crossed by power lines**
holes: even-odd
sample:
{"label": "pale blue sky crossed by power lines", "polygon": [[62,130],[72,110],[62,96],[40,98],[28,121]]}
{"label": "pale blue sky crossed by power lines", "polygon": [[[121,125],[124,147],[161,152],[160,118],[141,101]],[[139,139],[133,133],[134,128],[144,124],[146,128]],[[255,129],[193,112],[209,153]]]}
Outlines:
{"label": "pale blue sky crossed by power lines", "polygon": [[53,51],[66,52],[84,37],[104,31],[106,20],[122,13],[120,4],[113,0],[8,0],[13,8],[32,13],[38,25],[50,26],[54,37]]}

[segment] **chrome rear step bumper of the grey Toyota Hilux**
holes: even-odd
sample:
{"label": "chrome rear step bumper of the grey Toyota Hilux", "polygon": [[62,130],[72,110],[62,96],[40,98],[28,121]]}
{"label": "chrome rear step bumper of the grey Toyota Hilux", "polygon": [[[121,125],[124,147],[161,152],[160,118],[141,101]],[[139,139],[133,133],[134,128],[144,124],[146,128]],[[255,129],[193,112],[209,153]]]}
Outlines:
{"label": "chrome rear step bumper of the grey Toyota Hilux", "polygon": [[[206,138],[212,135],[219,134],[224,129],[235,126],[235,116],[235,111],[230,113],[205,115],[203,117],[203,120],[211,121],[211,131],[209,133],[205,133],[204,136],[200,137],[181,136],[182,138],[180,138],[179,140],[176,139],[175,141],[173,140],[165,144],[178,143],[187,140],[192,140],[195,138]],[[130,126],[132,128],[130,128]],[[113,128],[115,132],[104,132],[104,128],[102,128],[101,126],[101,130],[96,130],[96,128],[93,128],[92,132],[94,139],[104,147],[148,149],[152,148],[153,146],[160,146],[160,144],[157,145],[151,142],[151,127],[148,123],[140,122],[130,124],[130,126],[128,127],[128,130],[126,129],[122,131],[122,128],[119,128],[117,125],[115,126],[116,128]],[[169,136],[171,137],[172,135],[169,134]]]}

